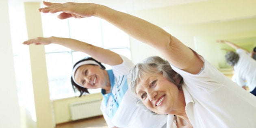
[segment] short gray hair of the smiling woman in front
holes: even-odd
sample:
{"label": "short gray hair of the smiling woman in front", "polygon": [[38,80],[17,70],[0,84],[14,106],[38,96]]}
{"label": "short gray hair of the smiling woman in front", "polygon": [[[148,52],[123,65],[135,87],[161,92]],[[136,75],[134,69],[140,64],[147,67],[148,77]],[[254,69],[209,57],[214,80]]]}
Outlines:
{"label": "short gray hair of the smiling woman in front", "polygon": [[[127,82],[132,93],[136,95],[136,86],[143,76],[156,73],[162,73],[163,76],[170,82],[174,83],[178,89],[181,89],[181,85],[183,84],[182,76],[171,68],[168,61],[159,56],[151,56],[146,58],[142,63],[138,63],[133,69],[130,70],[127,77]],[[150,111],[143,105],[141,99],[138,97],[137,105],[143,106],[143,108]],[[153,111],[150,112],[156,114]]]}

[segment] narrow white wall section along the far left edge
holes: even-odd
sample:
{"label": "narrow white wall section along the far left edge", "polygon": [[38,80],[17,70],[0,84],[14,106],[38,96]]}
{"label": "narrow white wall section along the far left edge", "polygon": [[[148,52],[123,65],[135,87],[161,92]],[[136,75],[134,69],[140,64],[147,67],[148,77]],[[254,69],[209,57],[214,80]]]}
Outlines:
{"label": "narrow white wall section along the far left edge", "polygon": [[14,74],[8,0],[2,0],[0,8],[0,128],[20,128],[20,111]]}

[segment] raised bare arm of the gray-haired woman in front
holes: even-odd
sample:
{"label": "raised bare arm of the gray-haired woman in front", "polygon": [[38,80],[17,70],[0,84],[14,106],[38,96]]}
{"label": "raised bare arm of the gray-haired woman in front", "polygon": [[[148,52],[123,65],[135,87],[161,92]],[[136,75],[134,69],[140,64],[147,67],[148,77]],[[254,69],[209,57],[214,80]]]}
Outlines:
{"label": "raised bare arm of the gray-haired woman in front", "polygon": [[91,16],[104,19],[135,39],[158,49],[170,63],[187,72],[197,74],[203,67],[203,62],[190,48],[162,28],[138,17],[99,4],[71,2],[64,4],[44,2],[44,4],[48,7],[39,9],[40,12],[63,12],[58,16],[60,19]]}

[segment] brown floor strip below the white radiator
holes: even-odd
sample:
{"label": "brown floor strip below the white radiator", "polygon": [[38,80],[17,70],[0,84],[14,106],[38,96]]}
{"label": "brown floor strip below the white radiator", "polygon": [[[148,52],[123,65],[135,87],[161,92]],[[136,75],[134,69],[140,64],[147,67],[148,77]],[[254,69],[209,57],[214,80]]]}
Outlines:
{"label": "brown floor strip below the white radiator", "polygon": [[57,124],[55,128],[108,128],[103,116]]}

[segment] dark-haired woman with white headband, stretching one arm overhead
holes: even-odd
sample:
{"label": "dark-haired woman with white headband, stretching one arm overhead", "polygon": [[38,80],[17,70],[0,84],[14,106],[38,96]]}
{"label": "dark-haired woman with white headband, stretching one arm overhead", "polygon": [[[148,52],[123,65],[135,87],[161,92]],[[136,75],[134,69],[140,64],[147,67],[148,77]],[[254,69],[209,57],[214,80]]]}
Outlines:
{"label": "dark-haired woman with white headband, stretching one arm overhead", "polygon": [[[102,89],[103,99],[100,109],[109,128],[165,127],[166,115],[152,115],[136,106],[136,98],[128,89],[126,81],[126,76],[134,64],[125,56],[69,38],[37,37],[24,41],[23,44],[33,43],[36,45],[55,43],[91,56],[74,65],[71,82],[73,88],[80,92],[80,96],[89,93],[88,89]],[[112,69],[106,70],[99,61],[111,65]]]}

